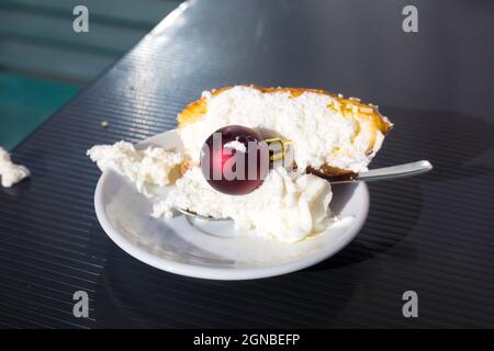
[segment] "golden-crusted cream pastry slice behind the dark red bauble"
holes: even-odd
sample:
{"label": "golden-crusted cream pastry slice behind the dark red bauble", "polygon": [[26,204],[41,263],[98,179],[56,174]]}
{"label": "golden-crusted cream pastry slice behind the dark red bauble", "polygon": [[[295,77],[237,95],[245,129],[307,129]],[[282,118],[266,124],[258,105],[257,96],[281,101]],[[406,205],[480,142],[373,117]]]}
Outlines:
{"label": "golden-crusted cream pastry slice behind the dark red bauble", "polygon": [[199,165],[201,147],[213,132],[243,125],[266,138],[291,140],[296,167],[329,179],[368,171],[392,127],[377,106],[355,98],[324,90],[255,86],[204,92],[177,120],[188,166]]}

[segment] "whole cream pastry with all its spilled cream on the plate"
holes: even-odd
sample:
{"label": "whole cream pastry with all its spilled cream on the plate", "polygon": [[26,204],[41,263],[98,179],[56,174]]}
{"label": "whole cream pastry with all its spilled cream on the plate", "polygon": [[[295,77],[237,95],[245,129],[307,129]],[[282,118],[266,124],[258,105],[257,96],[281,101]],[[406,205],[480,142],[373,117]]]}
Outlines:
{"label": "whole cream pastry with all its spilled cream on the plate", "polygon": [[[150,197],[155,217],[169,218],[175,208],[182,208],[232,218],[238,233],[284,242],[302,240],[338,220],[329,211],[333,194],[327,179],[366,172],[392,126],[375,106],[358,99],[323,90],[252,86],[204,92],[177,120],[184,155],[160,148],[135,150],[122,141],[96,146],[88,155],[102,170],[116,170],[146,195],[148,184],[170,185],[166,199]],[[260,185],[248,193],[218,191],[206,180],[200,160],[205,141],[224,127],[249,128],[262,143],[289,140],[290,167],[272,162]],[[225,146],[239,140],[237,135]],[[235,149],[246,151],[245,145]]]}

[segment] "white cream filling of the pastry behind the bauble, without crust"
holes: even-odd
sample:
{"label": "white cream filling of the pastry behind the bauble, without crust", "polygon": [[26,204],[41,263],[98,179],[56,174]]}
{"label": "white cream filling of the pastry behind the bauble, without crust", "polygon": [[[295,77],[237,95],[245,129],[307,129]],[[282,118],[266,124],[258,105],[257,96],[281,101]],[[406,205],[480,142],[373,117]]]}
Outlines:
{"label": "white cream filling of the pastry behind the bauble, without crust", "polygon": [[292,140],[294,159],[301,169],[327,163],[364,172],[384,139],[378,131],[369,155],[371,122],[343,117],[327,107],[338,102],[325,94],[304,92],[292,97],[290,92],[263,93],[236,86],[216,95],[204,92],[203,98],[207,103],[205,115],[178,131],[193,161],[199,161],[201,147],[213,132],[235,124],[256,128],[265,136]]}

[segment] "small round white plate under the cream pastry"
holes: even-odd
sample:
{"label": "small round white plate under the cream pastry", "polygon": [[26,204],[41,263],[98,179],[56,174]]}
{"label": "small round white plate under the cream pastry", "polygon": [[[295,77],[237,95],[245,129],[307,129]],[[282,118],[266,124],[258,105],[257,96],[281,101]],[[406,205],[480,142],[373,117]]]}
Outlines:
{"label": "small round white plate under the cream pastry", "polygon": [[[139,144],[145,145],[181,148],[175,131]],[[113,171],[101,176],[94,207],[109,237],[147,264],[188,276],[246,280],[307,268],[332,257],[356,237],[369,211],[367,185],[345,184],[333,190],[330,207],[345,220],[296,244],[236,236],[229,220],[191,222],[183,215],[169,220],[153,218],[151,202]]]}

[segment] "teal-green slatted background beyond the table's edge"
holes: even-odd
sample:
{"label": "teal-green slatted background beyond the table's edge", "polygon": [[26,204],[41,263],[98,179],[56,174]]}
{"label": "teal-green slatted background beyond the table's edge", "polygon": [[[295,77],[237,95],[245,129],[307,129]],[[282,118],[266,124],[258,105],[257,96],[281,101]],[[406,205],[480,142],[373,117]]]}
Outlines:
{"label": "teal-green slatted background beyond the table's edge", "polygon": [[[89,33],[72,31],[78,4]],[[15,147],[179,4],[0,0],[0,146]]]}

